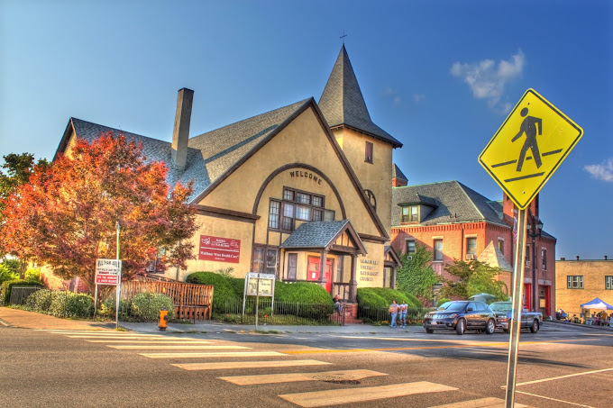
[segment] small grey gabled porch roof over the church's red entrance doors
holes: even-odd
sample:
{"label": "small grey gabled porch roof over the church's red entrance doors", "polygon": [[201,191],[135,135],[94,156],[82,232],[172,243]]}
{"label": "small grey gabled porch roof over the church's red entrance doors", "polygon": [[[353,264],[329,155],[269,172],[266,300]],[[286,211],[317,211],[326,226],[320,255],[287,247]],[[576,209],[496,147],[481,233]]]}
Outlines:
{"label": "small grey gabled porch roof over the church's red entrance doors", "polygon": [[343,233],[352,238],[357,253],[365,255],[366,249],[349,220],[316,221],[301,224],[279,245],[283,249],[326,249],[329,250]]}

